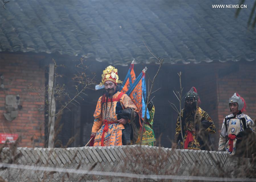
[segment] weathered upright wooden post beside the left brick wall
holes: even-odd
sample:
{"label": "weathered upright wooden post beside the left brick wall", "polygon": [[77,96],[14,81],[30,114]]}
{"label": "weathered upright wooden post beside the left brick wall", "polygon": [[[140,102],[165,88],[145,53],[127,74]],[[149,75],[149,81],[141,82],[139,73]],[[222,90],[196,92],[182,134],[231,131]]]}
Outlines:
{"label": "weathered upright wooden post beside the left brick wall", "polygon": [[54,123],[56,104],[54,99],[54,64],[49,65],[49,80],[48,80],[48,148],[54,147]]}

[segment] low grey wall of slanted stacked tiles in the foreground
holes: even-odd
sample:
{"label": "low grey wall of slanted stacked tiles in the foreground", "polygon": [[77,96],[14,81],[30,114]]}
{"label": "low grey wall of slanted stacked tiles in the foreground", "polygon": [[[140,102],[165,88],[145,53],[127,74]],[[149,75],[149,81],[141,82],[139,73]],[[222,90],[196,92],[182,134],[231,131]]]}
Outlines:
{"label": "low grey wall of slanted stacked tiles in the foreground", "polygon": [[[49,171],[1,168],[0,176],[5,181],[150,181],[138,178],[127,179],[122,175],[113,177],[110,172],[217,177],[222,176],[223,171],[227,171],[230,167],[226,152],[140,145],[54,149],[3,148],[0,157],[1,163],[70,170],[70,173],[67,173],[67,171],[54,172],[54,170],[51,172],[52,168]],[[80,173],[71,173],[71,170],[76,169]],[[84,170],[102,171],[102,174],[107,172],[107,175],[86,175]]]}

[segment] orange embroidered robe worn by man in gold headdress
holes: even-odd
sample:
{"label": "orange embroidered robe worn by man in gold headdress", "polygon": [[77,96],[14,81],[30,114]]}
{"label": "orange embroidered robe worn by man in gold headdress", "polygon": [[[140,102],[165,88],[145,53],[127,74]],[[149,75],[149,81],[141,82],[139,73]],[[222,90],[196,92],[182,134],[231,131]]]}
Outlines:
{"label": "orange embroidered robe worn by man in gold headdress", "polygon": [[[117,98],[120,92],[116,92],[113,95],[113,99]],[[94,122],[93,122],[93,128],[92,133],[96,133],[95,139],[94,139],[94,145],[93,146],[101,146],[101,138],[103,134],[103,129],[105,127],[105,124],[103,121],[106,121],[108,123],[116,122],[117,121],[117,114],[116,114],[116,104],[117,101],[107,103],[107,113],[105,113],[105,108],[101,108],[101,98],[99,98],[96,110],[94,112]],[[132,102],[131,98],[123,94],[120,98],[120,104],[123,109],[126,108],[132,108],[135,112],[138,112],[138,108],[135,106],[134,102]],[[111,106],[111,108],[110,108]],[[130,122],[130,121],[129,121]],[[104,134],[104,146],[115,146],[115,145],[122,145],[122,130],[124,129],[124,125],[120,123],[112,123],[108,124],[108,131]]]}

